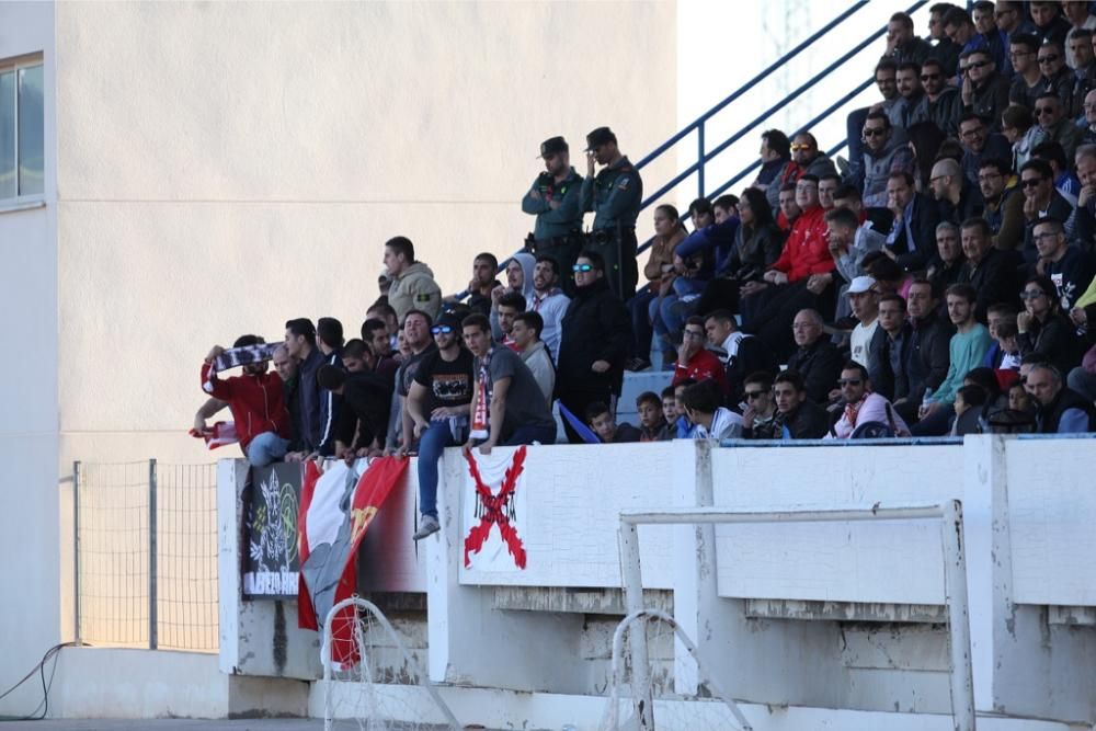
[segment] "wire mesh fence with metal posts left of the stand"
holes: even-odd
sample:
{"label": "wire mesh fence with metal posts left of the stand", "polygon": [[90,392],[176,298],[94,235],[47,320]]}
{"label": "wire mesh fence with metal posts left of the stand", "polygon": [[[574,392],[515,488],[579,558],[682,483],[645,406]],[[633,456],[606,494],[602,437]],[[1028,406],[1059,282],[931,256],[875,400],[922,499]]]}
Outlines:
{"label": "wire mesh fence with metal posts left of the stand", "polygon": [[216,466],[76,462],[73,475],[77,640],[216,652]]}

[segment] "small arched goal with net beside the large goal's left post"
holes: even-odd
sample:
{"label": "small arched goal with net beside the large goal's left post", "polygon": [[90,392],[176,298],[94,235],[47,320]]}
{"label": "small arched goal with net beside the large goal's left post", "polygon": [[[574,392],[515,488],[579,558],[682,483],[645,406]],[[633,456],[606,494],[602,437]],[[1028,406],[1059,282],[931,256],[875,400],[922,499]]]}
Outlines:
{"label": "small arched goal with net beside the large goal's left post", "polygon": [[[674,693],[675,652],[696,661],[703,697]],[[693,641],[658,609],[633,612],[617,626],[608,695],[598,731],[752,731],[734,700],[706,672]]]}

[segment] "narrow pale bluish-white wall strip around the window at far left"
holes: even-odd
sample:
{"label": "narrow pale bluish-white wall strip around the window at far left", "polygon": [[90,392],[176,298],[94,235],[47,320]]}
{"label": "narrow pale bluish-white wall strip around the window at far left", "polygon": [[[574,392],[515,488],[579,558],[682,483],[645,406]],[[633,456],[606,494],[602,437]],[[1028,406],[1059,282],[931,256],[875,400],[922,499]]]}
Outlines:
{"label": "narrow pale bluish-white wall strip around the window at far left", "polygon": [[[0,209],[0,311],[10,353],[2,374],[0,412],[0,686],[7,688],[60,641],[59,556],[71,544],[58,537],[57,470],[57,155],[54,7],[0,3],[0,61],[41,54],[44,61],[44,206]],[[0,699],[0,716],[30,712],[41,694],[27,685]]]}

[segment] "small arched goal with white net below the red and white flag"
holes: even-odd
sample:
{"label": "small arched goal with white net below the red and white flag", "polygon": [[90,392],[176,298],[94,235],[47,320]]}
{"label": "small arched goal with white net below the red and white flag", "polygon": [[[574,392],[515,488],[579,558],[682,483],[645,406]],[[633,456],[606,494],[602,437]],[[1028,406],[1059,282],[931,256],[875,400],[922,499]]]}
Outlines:
{"label": "small arched goal with white net below the red and white flag", "polygon": [[321,652],[324,731],[461,729],[430,685],[425,653],[409,650],[372,602],[354,597],[332,607]]}

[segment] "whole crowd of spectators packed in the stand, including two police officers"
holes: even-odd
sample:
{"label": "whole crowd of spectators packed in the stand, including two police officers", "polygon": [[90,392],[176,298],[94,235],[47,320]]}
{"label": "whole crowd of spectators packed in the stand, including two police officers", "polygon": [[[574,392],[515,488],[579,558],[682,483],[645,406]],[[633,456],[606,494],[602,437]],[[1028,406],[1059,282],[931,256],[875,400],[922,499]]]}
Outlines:
{"label": "whole crowd of spectators packed in the stand, including two police officers", "polygon": [[[925,38],[895,13],[848,157],[765,132],[739,195],[654,207],[642,269],[642,180],[615,134],[586,136],[585,175],[552,137],[504,269],[481,253],[443,298],[390,239],[361,338],[288,320],[277,377],[218,379],[215,347],[195,431],[227,406],[255,465],[418,453],[416,538],[437,529],[446,446],[1096,431],[1087,9],[939,3]],[[649,369],[665,388],[617,423],[625,372]]]}

